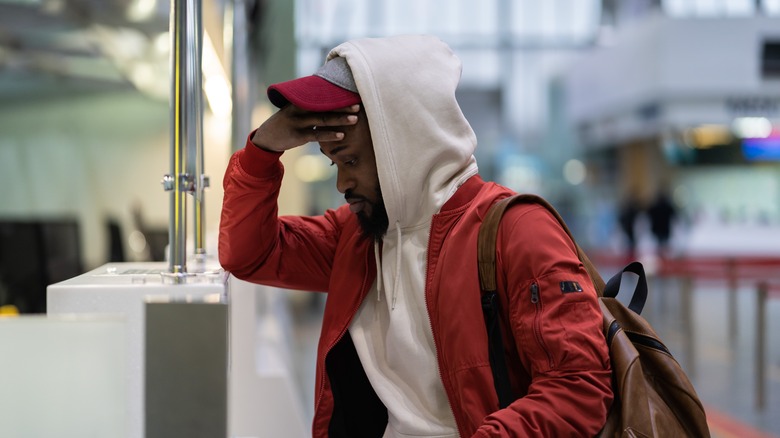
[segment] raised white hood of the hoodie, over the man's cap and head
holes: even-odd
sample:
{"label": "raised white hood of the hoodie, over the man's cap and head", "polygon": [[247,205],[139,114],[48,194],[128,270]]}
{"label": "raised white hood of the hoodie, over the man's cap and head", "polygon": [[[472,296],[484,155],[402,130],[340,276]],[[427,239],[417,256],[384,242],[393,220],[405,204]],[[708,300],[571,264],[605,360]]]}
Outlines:
{"label": "raised white hood of the hoodie, over the man's cap and head", "polygon": [[391,229],[426,223],[476,174],[476,136],[455,99],[460,60],[432,36],[365,38],[347,60],[371,129]]}

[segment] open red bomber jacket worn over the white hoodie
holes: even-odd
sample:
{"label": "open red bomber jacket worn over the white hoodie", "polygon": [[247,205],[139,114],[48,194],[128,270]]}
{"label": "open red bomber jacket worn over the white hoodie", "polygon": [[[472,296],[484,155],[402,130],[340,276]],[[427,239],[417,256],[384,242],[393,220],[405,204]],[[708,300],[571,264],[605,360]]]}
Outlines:
{"label": "open red bomber jacket worn over the white hoodie", "polygon": [[[371,389],[348,327],[374,282],[372,242],[346,205],[277,217],[279,155],[248,144],[224,177],[219,259],[238,278],[328,293],[318,345],[314,437],[381,437],[387,410]],[[498,409],[477,273],[477,232],[512,192],[470,178],[434,215],[425,300],[447,397],[462,437],[593,436],[612,402],[596,292],[547,210],[517,205],[499,227],[497,261],[512,388]],[[580,292],[562,284],[577,282]],[[564,291],[565,289],[565,291]],[[532,292],[533,291],[533,292]]]}

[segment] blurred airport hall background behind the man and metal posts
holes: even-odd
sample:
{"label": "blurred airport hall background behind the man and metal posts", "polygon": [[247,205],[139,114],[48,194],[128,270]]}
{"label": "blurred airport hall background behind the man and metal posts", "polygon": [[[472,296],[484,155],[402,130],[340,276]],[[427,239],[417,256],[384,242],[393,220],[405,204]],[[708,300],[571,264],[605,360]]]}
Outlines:
{"label": "blurred airport hall background behind the man and metal posts", "polygon": [[[268,84],[352,38],[434,34],[485,179],[548,198],[648,319],[719,436],[780,436],[780,0],[203,0],[205,195],[216,253],[230,154]],[[162,0],[0,0],[0,306],[109,261],[163,260],[171,168]],[[314,146],[281,212],[343,202]],[[302,397],[321,297],[290,295]],[[308,400],[305,404],[311,408]]]}

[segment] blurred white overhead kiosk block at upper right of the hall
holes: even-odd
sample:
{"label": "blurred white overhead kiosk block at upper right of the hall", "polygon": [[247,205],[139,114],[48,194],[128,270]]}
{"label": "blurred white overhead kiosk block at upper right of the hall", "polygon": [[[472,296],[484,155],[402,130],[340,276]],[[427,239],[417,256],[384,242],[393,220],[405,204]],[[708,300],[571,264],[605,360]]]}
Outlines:
{"label": "blurred white overhead kiosk block at upper right of the hall", "polygon": [[690,129],[701,140],[692,147],[726,144],[730,131],[767,137],[780,128],[778,47],[778,18],[655,17],[572,63],[564,74],[569,114],[591,148],[654,136],[685,141]]}

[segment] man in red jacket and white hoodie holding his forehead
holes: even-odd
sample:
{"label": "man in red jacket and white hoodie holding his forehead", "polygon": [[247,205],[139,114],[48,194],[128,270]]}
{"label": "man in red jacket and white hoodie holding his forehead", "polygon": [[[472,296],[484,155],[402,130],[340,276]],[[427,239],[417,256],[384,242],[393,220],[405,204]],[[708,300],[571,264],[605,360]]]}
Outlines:
{"label": "man in red jacket and white hoodie holding his forehead", "polygon": [[[511,191],[477,174],[460,61],[426,36],[351,41],[328,59],[269,87],[280,110],[231,159],[219,242],[239,278],[328,293],[313,436],[596,434],[612,400],[601,313],[571,240],[537,206],[511,208],[499,230],[518,399],[498,409],[476,240]],[[277,217],[279,156],[312,141],[348,205]]]}

